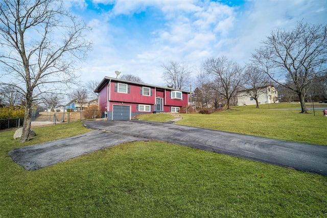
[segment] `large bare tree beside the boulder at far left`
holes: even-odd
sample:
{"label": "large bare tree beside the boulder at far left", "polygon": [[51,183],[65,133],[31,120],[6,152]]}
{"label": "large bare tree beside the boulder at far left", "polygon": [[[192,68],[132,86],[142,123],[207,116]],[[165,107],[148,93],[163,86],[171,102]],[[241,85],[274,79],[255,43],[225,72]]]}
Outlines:
{"label": "large bare tree beside the boulder at far left", "polygon": [[[74,83],[76,60],[85,58],[91,43],[89,28],[54,0],[2,0],[0,40],[4,76],[25,96],[25,119],[20,142],[30,139],[32,107],[45,92]],[[4,80],[3,80],[4,81]]]}

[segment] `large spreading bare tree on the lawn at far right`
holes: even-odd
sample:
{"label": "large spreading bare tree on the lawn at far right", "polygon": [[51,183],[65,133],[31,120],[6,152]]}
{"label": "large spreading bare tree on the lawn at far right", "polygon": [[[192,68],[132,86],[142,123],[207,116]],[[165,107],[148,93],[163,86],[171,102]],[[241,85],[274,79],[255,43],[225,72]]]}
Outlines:
{"label": "large spreading bare tree on the lawn at far right", "polygon": [[[299,22],[292,31],[278,29],[252,54],[253,62],[277,84],[298,95],[307,113],[305,95],[316,76],[326,74],[327,26]],[[292,84],[287,83],[287,79]]]}

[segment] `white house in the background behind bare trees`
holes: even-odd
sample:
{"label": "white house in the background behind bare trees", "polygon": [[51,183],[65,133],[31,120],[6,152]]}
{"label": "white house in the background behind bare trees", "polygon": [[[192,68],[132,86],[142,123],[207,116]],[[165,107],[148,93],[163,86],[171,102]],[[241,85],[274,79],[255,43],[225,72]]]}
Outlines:
{"label": "white house in the background behind bare trees", "polygon": [[[255,105],[255,100],[249,95],[249,89],[240,90],[237,96],[237,105]],[[258,98],[259,104],[278,103],[278,92],[273,85],[261,88]]]}

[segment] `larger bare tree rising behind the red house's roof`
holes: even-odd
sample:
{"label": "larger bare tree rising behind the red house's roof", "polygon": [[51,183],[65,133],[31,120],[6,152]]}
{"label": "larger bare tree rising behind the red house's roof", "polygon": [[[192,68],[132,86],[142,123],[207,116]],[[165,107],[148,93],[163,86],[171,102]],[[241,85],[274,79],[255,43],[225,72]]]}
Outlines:
{"label": "larger bare tree rising behind the red house's roof", "polygon": [[192,68],[188,63],[177,63],[170,61],[168,64],[162,64],[164,74],[162,78],[170,88],[185,89],[190,85]]}

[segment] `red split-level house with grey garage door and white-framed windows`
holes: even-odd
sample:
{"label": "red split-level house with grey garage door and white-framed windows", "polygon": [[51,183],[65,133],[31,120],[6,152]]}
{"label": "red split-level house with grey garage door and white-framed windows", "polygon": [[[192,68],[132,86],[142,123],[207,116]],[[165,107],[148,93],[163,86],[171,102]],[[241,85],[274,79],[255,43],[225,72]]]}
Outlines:
{"label": "red split-level house with grey garage door and white-framed windows", "polygon": [[109,120],[128,120],[144,113],[178,112],[189,105],[191,91],[105,77],[96,88],[99,107]]}

